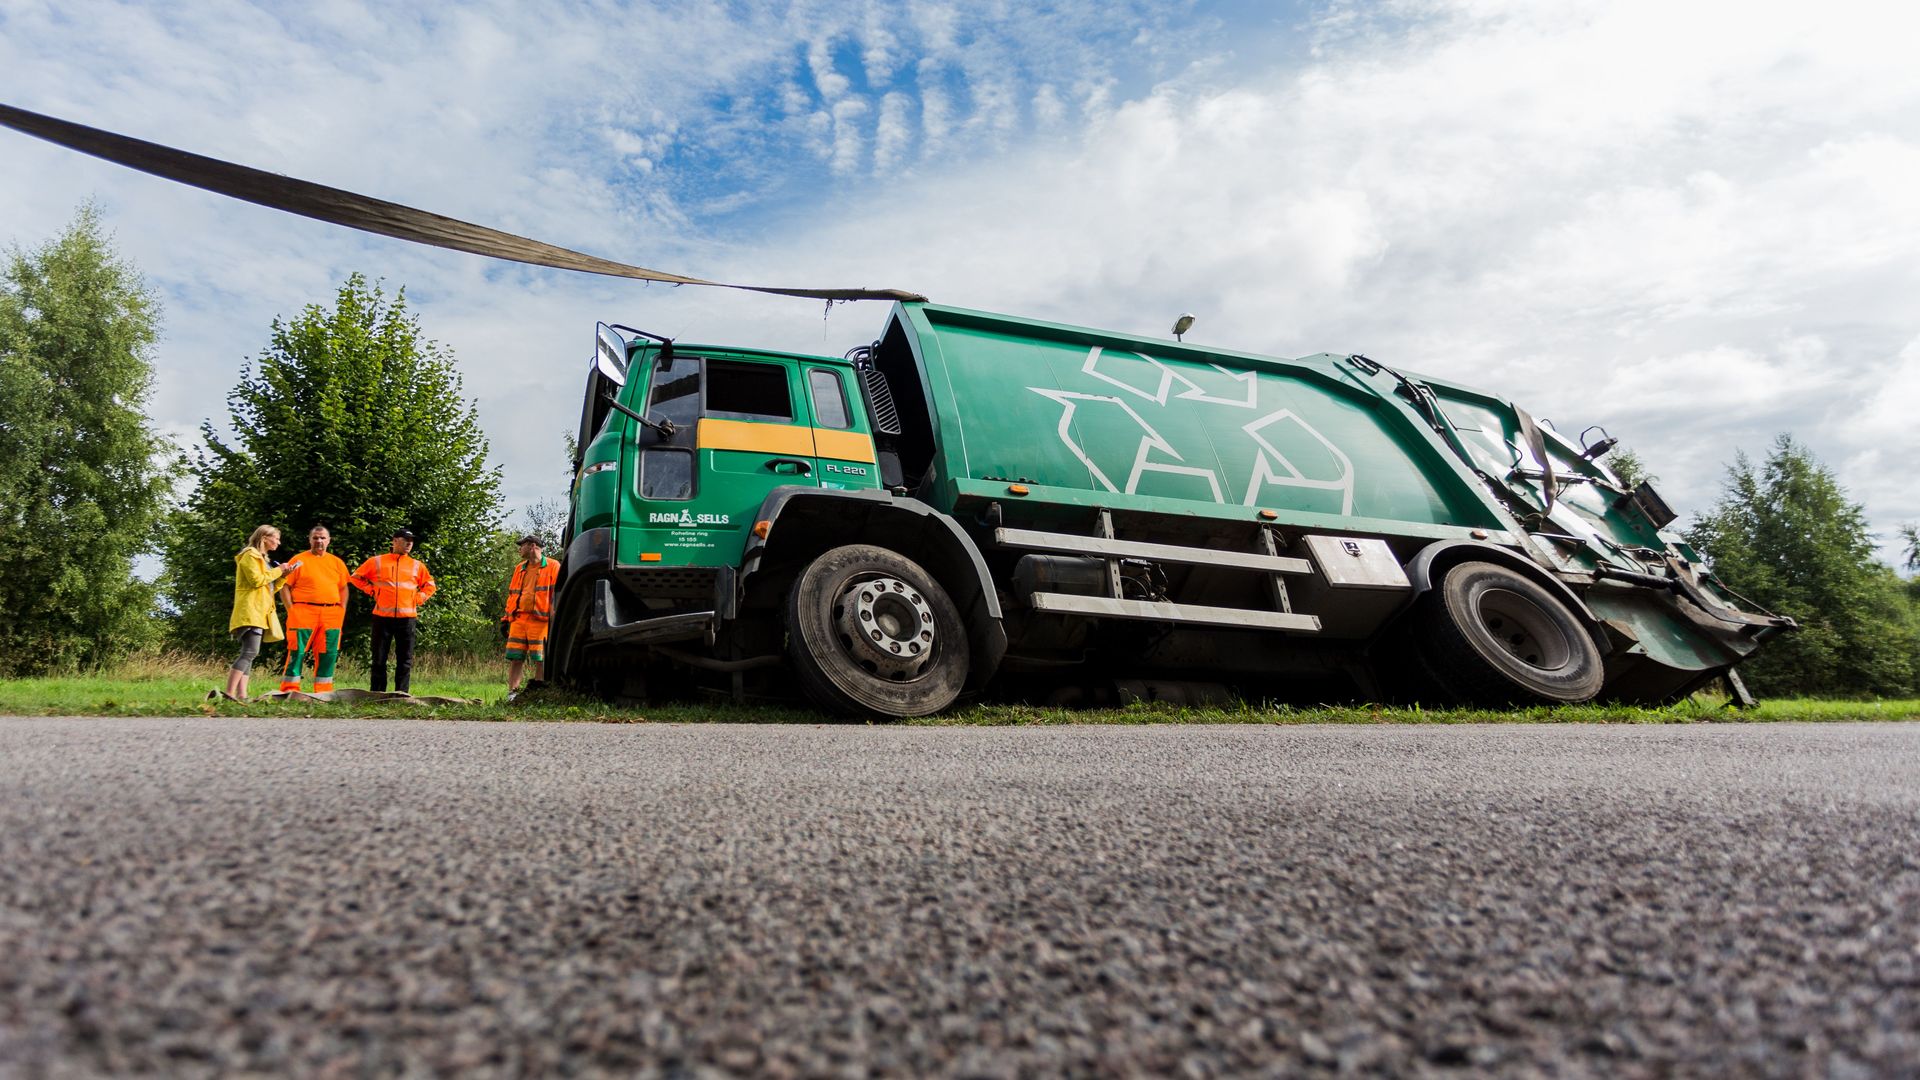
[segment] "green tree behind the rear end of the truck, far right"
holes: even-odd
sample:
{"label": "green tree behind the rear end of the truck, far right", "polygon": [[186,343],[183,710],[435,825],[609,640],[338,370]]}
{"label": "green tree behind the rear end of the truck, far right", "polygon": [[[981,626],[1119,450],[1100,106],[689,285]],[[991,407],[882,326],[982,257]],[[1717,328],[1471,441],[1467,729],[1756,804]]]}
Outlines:
{"label": "green tree behind the rear end of the truck, far right", "polygon": [[1801,625],[1741,667],[1755,694],[1920,690],[1920,613],[1874,559],[1859,503],[1791,436],[1759,467],[1741,454],[1688,540],[1730,588]]}

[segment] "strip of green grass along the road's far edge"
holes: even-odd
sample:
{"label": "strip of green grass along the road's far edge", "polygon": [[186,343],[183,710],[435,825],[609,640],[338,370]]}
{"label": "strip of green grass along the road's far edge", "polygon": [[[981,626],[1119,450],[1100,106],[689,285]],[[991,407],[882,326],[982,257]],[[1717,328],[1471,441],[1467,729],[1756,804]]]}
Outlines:
{"label": "strip of green grass along the road's far edge", "polygon": [[[98,715],[98,717],[436,717],[457,721],[597,721],[597,723],[824,723],[826,717],[789,705],[674,703],[614,707],[595,698],[541,692],[509,705],[505,663],[447,663],[422,659],[413,692],[436,698],[470,698],[472,705],[407,703],[276,703],[207,701],[207,690],[225,680],[219,661],[154,657],[129,663],[111,675],[56,678],[0,678],[0,715]],[[367,686],[359,669],[342,669],[340,686]],[[253,690],[271,690],[275,675],[259,669]],[[1119,709],[1048,709],[1037,705],[970,705],[908,724],[1043,726],[1043,724],[1686,724],[1747,721],[1920,721],[1914,701],[1774,700],[1757,709],[1726,709],[1716,700],[1693,698],[1665,709],[1624,705],[1571,705],[1559,709],[1394,709],[1380,705],[1127,705]]]}

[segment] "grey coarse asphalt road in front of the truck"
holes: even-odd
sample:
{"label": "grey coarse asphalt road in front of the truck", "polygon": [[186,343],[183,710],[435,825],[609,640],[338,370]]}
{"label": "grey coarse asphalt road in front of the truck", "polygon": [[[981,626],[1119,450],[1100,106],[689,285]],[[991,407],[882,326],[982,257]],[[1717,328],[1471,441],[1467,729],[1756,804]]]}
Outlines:
{"label": "grey coarse asphalt road in front of the truck", "polygon": [[1920,724],[0,719],[0,1074],[1920,1074]]}

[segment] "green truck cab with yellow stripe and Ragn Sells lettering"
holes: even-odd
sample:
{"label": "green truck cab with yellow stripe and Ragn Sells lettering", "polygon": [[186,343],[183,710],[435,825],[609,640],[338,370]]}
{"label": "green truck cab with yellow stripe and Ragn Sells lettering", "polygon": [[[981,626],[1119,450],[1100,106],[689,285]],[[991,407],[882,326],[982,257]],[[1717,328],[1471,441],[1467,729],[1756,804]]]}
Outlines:
{"label": "green truck cab with yellow stripe and Ragn Sells lettering", "polygon": [[843,357],[622,329],[632,338],[609,325],[595,334],[555,667],[628,694],[684,688],[676,667],[764,680],[780,613],[753,609],[778,605],[785,582],[772,573],[745,588],[768,534],[762,509],[789,509],[793,532],[808,517],[791,511],[795,496],[887,494],[868,392]]}

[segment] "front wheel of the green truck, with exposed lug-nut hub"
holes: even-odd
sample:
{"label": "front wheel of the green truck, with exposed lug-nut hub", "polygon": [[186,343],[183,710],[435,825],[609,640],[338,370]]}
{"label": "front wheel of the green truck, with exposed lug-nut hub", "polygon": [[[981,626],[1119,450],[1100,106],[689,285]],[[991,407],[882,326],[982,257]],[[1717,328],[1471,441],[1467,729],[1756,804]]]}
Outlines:
{"label": "front wheel of the green truck, with exposed lug-nut hub", "polygon": [[787,653],[816,705],[877,719],[952,705],[970,663],[947,590],[912,559],[868,544],[833,548],[801,571],[787,594]]}

